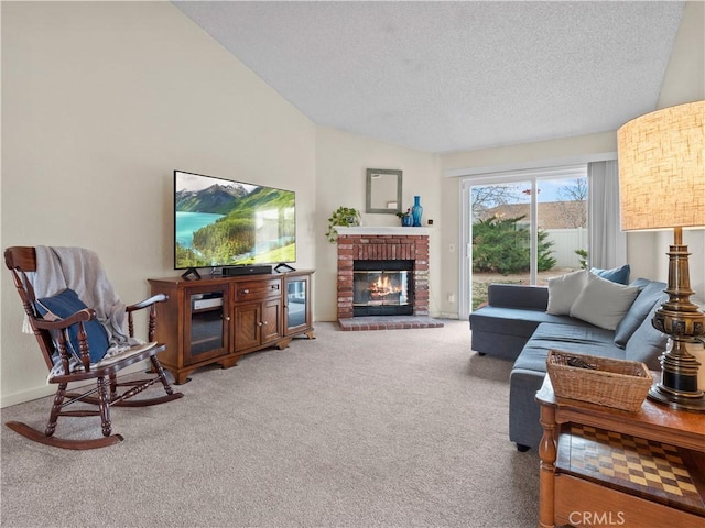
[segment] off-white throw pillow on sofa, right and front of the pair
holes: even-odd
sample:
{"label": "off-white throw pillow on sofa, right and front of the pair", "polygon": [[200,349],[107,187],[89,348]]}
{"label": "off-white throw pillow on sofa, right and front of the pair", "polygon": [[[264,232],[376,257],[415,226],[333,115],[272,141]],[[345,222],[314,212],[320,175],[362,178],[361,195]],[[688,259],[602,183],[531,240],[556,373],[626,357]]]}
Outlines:
{"label": "off-white throw pillow on sofa, right and front of the pair", "polygon": [[612,283],[589,273],[583,290],[571,308],[571,317],[615,330],[639,295],[639,287]]}

